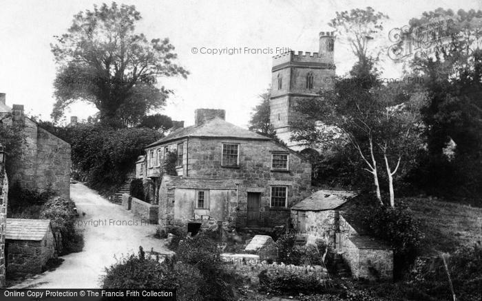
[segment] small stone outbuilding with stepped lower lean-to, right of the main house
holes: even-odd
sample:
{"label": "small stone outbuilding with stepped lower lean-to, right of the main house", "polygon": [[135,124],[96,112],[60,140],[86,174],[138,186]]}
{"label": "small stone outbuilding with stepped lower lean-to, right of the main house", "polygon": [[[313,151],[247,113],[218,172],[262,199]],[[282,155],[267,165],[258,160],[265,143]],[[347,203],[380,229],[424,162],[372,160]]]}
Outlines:
{"label": "small stone outbuilding with stepped lower lean-to, right of the main house", "polygon": [[347,205],[353,192],[318,190],[291,208],[291,222],[307,241],[322,239],[341,254],[355,278],[392,279],[393,250],[366,234]]}

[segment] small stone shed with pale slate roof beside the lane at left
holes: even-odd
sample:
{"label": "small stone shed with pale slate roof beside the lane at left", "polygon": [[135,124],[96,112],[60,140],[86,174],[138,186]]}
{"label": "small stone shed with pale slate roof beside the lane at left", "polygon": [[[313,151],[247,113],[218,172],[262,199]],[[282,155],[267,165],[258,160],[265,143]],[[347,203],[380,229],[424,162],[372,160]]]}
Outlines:
{"label": "small stone shed with pale slate roof beside the lane at left", "polygon": [[7,219],[6,271],[8,277],[40,274],[56,258],[50,219]]}

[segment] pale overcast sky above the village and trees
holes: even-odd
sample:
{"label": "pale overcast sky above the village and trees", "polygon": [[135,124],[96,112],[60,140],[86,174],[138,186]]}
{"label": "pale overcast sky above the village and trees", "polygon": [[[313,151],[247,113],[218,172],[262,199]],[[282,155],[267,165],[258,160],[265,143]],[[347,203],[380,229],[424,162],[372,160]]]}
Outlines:
{"label": "pale overcast sky above the village and trees", "polygon": [[[30,115],[50,120],[54,104],[55,77],[50,43],[54,35],[66,32],[72,16],[103,1],[17,1],[0,5],[0,92],[7,104],[24,104]],[[169,37],[176,47],[178,64],[191,72],[185,80],[169,78],[160,84],[174,89],[164,113],[174,120],[193,124],[196,108],[226,109],[227,121],[247,126],[258,95],[271,80],[272,54],[209,55],[192,53],[192,48],[289,47],[317,52],[318,32],[330,30],[327,23],[335,12],[372,6],[390,16],[385,27],[407,25],[413,17],[439,7],[482,9],[480,0],[459,1],[117,1],[134,4],[143,16],[138,32],[148,38]],[[107,2],[108,3],[108,2]],[[388,36],[386,36],[388,43]],[[353,64],[353,55],[335,42],[337,75]],[[387,77],[399,76],[399,64],[384,63]],[[87,118],[96,109],[85,103],[65,112],[67,118]]]}

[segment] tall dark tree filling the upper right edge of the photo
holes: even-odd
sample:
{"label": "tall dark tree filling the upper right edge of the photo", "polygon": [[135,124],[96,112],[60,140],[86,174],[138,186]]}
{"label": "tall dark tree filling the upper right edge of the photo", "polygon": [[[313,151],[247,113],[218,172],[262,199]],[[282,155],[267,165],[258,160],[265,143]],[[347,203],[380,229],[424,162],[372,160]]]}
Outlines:
{"label": "tall dark tree filling the upper right edge of the photo", "polygon": [[[440,25],[441,24],[441,25]],[[403,36],[428,32],[432,52],[411,61],[427,101],[421,108],[428,151],[417,177],[430,193],[478,198],[482,191],[482,11],[438,8],[410,20]],[[415,40],[417,42],[417,40]],[[454,144],[453,157],[447,156]],[[436,179],[436,180],[435,180]]]}

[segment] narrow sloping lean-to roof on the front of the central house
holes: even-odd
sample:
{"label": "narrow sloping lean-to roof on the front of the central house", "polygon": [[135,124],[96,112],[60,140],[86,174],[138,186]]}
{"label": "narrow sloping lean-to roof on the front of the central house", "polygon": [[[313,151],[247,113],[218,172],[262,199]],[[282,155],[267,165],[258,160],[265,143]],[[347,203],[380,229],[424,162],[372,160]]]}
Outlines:
{"label": "narrow sloping lean-to roof on the front of the central house", "polygon": [[164,177],[169,179],[169,182],[167,182],[169,186],[191,189],[236,189],[236,183],[242,181],[240,179],[200,179],[169,175],[165,175]]}

